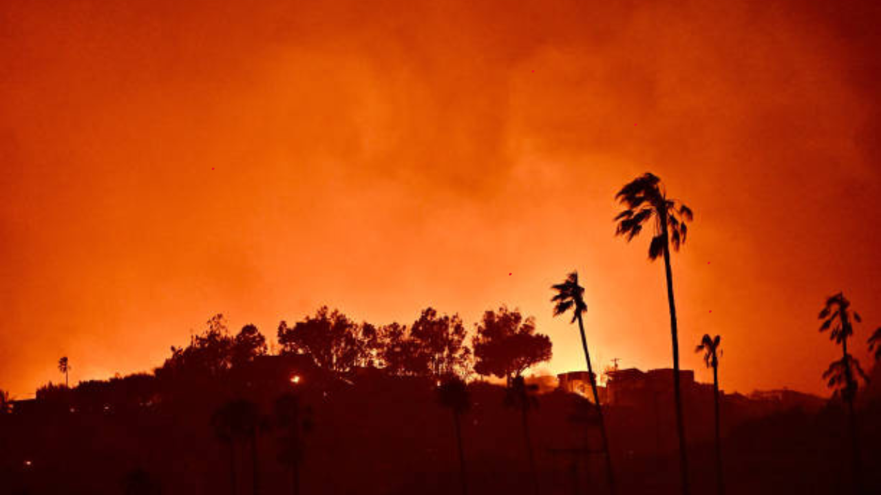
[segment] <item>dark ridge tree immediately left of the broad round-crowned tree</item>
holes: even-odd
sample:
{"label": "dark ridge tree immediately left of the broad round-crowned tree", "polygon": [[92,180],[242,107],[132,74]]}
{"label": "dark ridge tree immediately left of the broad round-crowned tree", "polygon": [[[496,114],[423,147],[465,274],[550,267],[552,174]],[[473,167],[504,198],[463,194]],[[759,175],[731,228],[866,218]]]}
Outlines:
{"label": "dark ridge tree immediately left of the broad round-crowned tree", "polygon": [[410,328],[411,338],[426,355],[428,372],[438,378],[468,373],[471,351],[464,345],[466,333],[458,314],[441,316],[433,307],[424,309]]}

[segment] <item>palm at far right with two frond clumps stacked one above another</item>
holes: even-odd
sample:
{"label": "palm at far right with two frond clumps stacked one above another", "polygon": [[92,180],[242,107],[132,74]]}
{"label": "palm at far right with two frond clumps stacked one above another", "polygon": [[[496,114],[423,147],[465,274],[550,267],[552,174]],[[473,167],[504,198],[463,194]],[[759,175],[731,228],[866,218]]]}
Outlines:
{"label": "palm at far right with two frond clumps stacked one above another", "polygon": [[[856,397],[856,374],[866,378],[862,372],[860,362],[848,353],[848,337],[854,335],[854,324],[862,322],[859,313],[850,309],[850,301],[838,292],[826,298],[825,306],[820,311],[818,319],[823,321],[820,332],[831,330],[829,339],[835,344],[841,345],[841,359],[833,361],[829,369],[823,373],[830,388],[840,391],[841,399],[848,404],[848,427],[850,430],[851,460],[854,466],[854,488],[856,493],[862,492],[862,466],[860,462],[860,444],[856,433],[856,413],[854,401]],[[873,336],[874,337],[874,336]]]}

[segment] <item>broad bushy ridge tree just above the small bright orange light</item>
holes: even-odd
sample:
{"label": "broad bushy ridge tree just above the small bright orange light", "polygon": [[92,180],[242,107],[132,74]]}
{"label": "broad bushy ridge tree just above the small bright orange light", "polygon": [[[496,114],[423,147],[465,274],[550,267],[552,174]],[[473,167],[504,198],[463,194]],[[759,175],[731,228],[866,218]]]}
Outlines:
{"label": "broad bushy ridge tree just above the small bright orange light", "polygon": [[278,344],[282,354],[308,354],[315,364],[337,373],[346,373],[359,361],[361,352],[356,331],[358,324],[336,309],[324,306],[288,327],[278,325]]}

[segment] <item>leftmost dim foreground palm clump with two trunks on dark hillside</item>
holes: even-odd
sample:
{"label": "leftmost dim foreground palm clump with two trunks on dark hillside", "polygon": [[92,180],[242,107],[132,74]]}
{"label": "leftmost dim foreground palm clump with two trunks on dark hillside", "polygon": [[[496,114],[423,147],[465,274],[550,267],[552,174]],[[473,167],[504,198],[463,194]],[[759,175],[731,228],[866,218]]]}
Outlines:
{"label": "leftmost dim foreground palm clump with two trunks on dark hillside", "polygon": [[251,440],[251,460],[253,462],[253,493],[259,492],[257,462],[257,432],[259,430],[257,406],[245,399],[225,403],[211,416],[211,426],[215,436],[229,445],[229,472],[231,493],[236,493],[235,445],[238,440]]}

